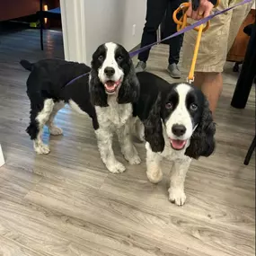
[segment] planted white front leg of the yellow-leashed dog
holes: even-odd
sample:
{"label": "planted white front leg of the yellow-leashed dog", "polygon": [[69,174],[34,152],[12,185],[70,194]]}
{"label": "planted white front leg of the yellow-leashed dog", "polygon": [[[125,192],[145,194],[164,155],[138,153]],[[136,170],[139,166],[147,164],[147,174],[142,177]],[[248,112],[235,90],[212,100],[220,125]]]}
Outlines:
{"label": "planted white front leg of the yellow-leashed dog", "polygon": [[168,191],[169,200],[177,206],[182,206],[186,201],[184,182],[190,162],[190,157],[186,157],[185,159],[175,160],[173,163],[170,189]]}

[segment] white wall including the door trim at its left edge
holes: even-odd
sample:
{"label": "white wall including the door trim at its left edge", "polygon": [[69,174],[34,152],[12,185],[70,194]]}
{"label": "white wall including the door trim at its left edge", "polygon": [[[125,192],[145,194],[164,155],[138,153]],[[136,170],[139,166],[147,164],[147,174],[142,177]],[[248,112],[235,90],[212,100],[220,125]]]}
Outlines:
{"label": "white wall including the door trim at its left edge", "polygon": [[61,0],[60,4],[66,60],[89,65],[94,50],[106,41],[128,50],[140,43],[146,0]]}

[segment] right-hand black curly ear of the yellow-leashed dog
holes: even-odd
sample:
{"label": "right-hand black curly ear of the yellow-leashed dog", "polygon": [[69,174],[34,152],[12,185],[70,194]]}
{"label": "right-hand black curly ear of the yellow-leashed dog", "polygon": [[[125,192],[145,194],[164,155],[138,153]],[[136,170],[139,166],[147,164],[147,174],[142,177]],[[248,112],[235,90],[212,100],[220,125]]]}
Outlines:
{"label": "right-hand black curly ear of the yellow-leashed dog", "polygon": [[190,139],[190,146],[187,148],[185,154],[195,159],[198,159],[199,156],[213,154],[216,146],[215,133],[216,125],[212,118],[212,112],[209,110],[207,99],[205,98],[202,117]]}

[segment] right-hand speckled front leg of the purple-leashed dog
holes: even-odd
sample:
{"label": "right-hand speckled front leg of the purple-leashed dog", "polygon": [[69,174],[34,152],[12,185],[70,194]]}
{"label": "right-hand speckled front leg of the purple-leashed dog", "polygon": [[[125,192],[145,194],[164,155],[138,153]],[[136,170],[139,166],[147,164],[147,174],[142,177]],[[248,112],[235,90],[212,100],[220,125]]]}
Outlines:
{"label": "right-hand speckled front leg of the purple-leashed dog", "polygon": [[132,143],[129,122],[124,124],[121,128],[118,128],[117,134],[119,137],[121,152],[124,155],[125,159],[128,161],[128,163],[141,163],[141,160],[137,154],[137,149]]}

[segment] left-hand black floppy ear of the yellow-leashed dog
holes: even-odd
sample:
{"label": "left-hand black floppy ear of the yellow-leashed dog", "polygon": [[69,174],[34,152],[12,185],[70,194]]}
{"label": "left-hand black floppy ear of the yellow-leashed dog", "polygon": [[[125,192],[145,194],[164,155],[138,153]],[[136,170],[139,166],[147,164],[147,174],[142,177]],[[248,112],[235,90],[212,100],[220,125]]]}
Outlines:
{"label": "left-hand black floppy ear of the yellow-leashed dog", "polygon": [[161,121],[161,95],[159,94],[148,118],[143,122],[145,139],[150,144],[153,152],[163,152],[164,138]]}

